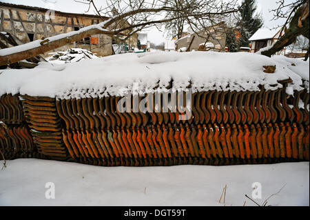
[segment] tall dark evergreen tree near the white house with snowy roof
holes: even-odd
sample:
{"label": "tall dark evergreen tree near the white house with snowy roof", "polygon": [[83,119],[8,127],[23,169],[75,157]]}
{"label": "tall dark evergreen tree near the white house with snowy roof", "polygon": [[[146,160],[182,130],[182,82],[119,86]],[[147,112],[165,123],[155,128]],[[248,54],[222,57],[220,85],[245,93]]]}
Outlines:
{"label": "tall dark evergreen tree near the white house with snowy roof", "polygon": [[249,38],[262,27],[262,18],[255,12],[255,0],[242,1],[242,5],[239,8],[241,20],[237,24],[240,31],[239,47],[248,47]]}

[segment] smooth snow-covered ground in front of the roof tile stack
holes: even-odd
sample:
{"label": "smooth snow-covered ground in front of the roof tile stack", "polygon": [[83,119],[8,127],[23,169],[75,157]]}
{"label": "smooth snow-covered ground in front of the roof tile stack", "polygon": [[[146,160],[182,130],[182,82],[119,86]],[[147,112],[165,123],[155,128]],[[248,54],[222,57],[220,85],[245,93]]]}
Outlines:
{"label": "smooth snow-covered ground in front of the roof tile stack", "polygon": [[[0,161],[2,164],[3,161]],[[45,183],[55,199],[45,199]],[[0,206],[309,206],[309,162],[244,166],[99,167],[17,159],[0,170]]]}

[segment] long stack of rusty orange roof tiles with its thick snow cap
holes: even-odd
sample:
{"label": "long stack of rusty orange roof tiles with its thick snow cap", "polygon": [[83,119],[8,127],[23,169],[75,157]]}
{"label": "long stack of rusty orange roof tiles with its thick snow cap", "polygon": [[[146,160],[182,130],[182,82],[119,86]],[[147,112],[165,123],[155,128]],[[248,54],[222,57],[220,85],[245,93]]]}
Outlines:
{"label": "long stack of rusty orange roof tiles with its thick snow cap", "polygon": [[[156,106],[119,112],[134,83],[152,97],[192,88],[192,116],[182,121],[181,112]],[[309,161],[309,62],[297,59],[154,52],[3,70],[0,94],[18,93],[27,94],[34,139],[52,159],[101,166]]]}

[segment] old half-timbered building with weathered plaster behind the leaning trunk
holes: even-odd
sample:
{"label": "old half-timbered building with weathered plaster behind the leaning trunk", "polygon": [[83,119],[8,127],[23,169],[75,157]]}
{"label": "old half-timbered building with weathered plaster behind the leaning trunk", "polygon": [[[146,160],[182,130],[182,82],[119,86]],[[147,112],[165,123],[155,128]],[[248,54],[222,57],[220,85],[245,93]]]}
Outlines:
{"label": "old half-timbered building with weathered plaster behind the leaning trunk", "polygon": [[[0,2],[0,32],[9,32],[19,44],[23,44],[43,37],[52,37],[56,34],[79,30],[100,23],[102,19],[109,19],[92,14],[53,11],[52,16],[46,16],[47,13],[48,9],[45,8]],[[127,39],[127,45],[136,47],[137,38],[137,34],[134,34],[130,39]],[[118,42],[107,34],[96,34],[50,52],[68,50],[69,48],[83,48],[98,56],[108,56],[114,54],[112,41]],[[48,52],[44,55],[48,56]]]}

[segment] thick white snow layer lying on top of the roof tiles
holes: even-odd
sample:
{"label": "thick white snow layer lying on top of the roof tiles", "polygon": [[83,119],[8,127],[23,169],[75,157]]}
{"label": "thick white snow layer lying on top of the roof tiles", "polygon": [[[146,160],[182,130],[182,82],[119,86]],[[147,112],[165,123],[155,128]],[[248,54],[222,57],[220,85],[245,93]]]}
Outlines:
{"label": "thick white snow layer lying on top of the roof tiles", "polygon": [[[291,66],[294,63],[296,66]],[[262,66],[275,66],[273,74]],[[140,94],[165,91],[173,79],[175,90],[192,83],[193,92],[204,90],[267,90],[282,88],[278,80],[291,78],[287,91],[302,90],[309,81],[309,61],[269,58],[248,52],[152,52],[118,54],[78,63],[40,63],[37,68],[2,70],[0,94],[28,94],[61,99],[122,96],[138,89]],[[271,86],[273,85],[273,86]]]}

